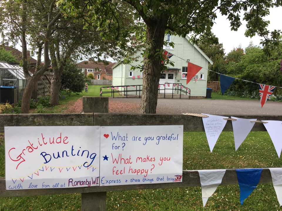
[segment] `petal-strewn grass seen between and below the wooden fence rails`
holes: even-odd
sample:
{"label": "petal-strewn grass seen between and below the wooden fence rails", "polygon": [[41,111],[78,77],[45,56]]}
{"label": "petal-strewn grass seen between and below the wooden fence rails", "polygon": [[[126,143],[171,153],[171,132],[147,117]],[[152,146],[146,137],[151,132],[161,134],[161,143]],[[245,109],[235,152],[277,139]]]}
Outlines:
{"label": "petal-strewn grass seen between and below the wooden fence rails", "polygon": [[[204,132],[184,132],[183,169],[281,167],[267,132],[251,132],[235,152],[233,132],[222,132],[212,153]],[[4,137],[0,133],[0,177],[4,172]],[[262,184],[240,205],[239,186],[219,186],[202,206],[201,188],[164,188],[107,192],[107,210],[282,210],[272,184]],[[80,210],[80,194],[0,198],[2,210]]]}

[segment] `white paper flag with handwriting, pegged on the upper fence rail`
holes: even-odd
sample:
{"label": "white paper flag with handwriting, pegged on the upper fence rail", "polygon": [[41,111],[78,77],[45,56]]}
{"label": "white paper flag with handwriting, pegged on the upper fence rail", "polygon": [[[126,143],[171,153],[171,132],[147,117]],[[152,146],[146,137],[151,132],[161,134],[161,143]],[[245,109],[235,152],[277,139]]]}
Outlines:
{"label": "white paper flag with handwriting, pegged on the upper fence rail", "polygon": [[211,114],[204,114],[204,115],[209,116],[209,117],[203,117],[202,120],[204,123],[207,140],[209,143],[209,149],[212,152],[212,150],[214,149],[214,145],[227,122],[227,120],[224,120],[223,118],[228,118],[228,117],[211,115]]}

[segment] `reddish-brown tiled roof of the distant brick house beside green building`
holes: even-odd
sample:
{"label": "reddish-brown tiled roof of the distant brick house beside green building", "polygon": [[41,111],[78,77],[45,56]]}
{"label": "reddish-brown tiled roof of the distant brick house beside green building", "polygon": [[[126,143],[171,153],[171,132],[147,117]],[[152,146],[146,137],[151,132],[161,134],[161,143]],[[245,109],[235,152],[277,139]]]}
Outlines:
{"label": "reddish-brown tiled roof of the distant brick house beside green building", "polygon": [[103,62],[95,62],[95,61],[82,61],[77,64],[78,68],[82,69],[99,69],[99,71],[93,72],[93,74],[101,74],[102,70],[105,70],[106,74],[112,75],[113,70],[112,67],[116,63],[109,62],[108,65],[105,65]]}

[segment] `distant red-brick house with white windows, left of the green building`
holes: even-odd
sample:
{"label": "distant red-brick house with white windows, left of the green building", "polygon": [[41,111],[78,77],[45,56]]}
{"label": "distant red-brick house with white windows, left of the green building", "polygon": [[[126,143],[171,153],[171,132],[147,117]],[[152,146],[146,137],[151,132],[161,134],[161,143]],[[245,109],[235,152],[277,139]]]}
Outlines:
{"label": "distant red-brick house with white windows, left of the green building", "polygon": [[113,70],[112,67],[116,63],[109,62],[108,65],[105,65],[103,62],[95,61],[82,61],[77,64],[78,68],[81,68],[82,72],[87,76],[92,73],[95,79],[113,79]]}

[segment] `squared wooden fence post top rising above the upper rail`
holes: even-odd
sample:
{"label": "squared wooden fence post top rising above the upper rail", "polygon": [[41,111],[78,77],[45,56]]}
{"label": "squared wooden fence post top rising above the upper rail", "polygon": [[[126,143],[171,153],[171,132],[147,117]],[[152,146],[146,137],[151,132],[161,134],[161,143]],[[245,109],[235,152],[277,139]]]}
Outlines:
{"label": "squared wooden fence post top rising above the upper rail", "polygon": [[109,98],[100,96],[83,96],[82,110],[84,113],[108,113]]}

